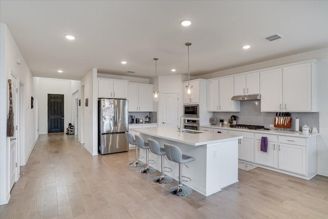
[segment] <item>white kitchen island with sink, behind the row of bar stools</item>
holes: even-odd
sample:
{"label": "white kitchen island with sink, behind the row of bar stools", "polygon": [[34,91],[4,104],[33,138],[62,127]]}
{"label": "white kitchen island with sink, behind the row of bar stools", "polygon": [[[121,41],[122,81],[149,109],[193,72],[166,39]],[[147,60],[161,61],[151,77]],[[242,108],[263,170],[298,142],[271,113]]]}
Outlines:
{"label": "white kitchen island with sink, behind the row of bar stools", "polygon": [[[188,163],[187,167],[183,166],[183,175],[192,180],[183,184],[202,195],[209,196],[238,182],[238,139],[242,136],[200,131],[180,133],[174,127],[140,128],[134,131],[139,132],[145,142],[152,138],[161,147],[173,144],[183,154],[195,157],[195,161]],[[146,157],[145,150],[140,150],[140,155]],[[155,161],[150,166],[160,170],[160,156],[150,153],[149,159]],[[145,158],[140,160],[146,162]],[[166,160],[165,166],[172,169],[166,174],[177,180],[178,164]]]}

